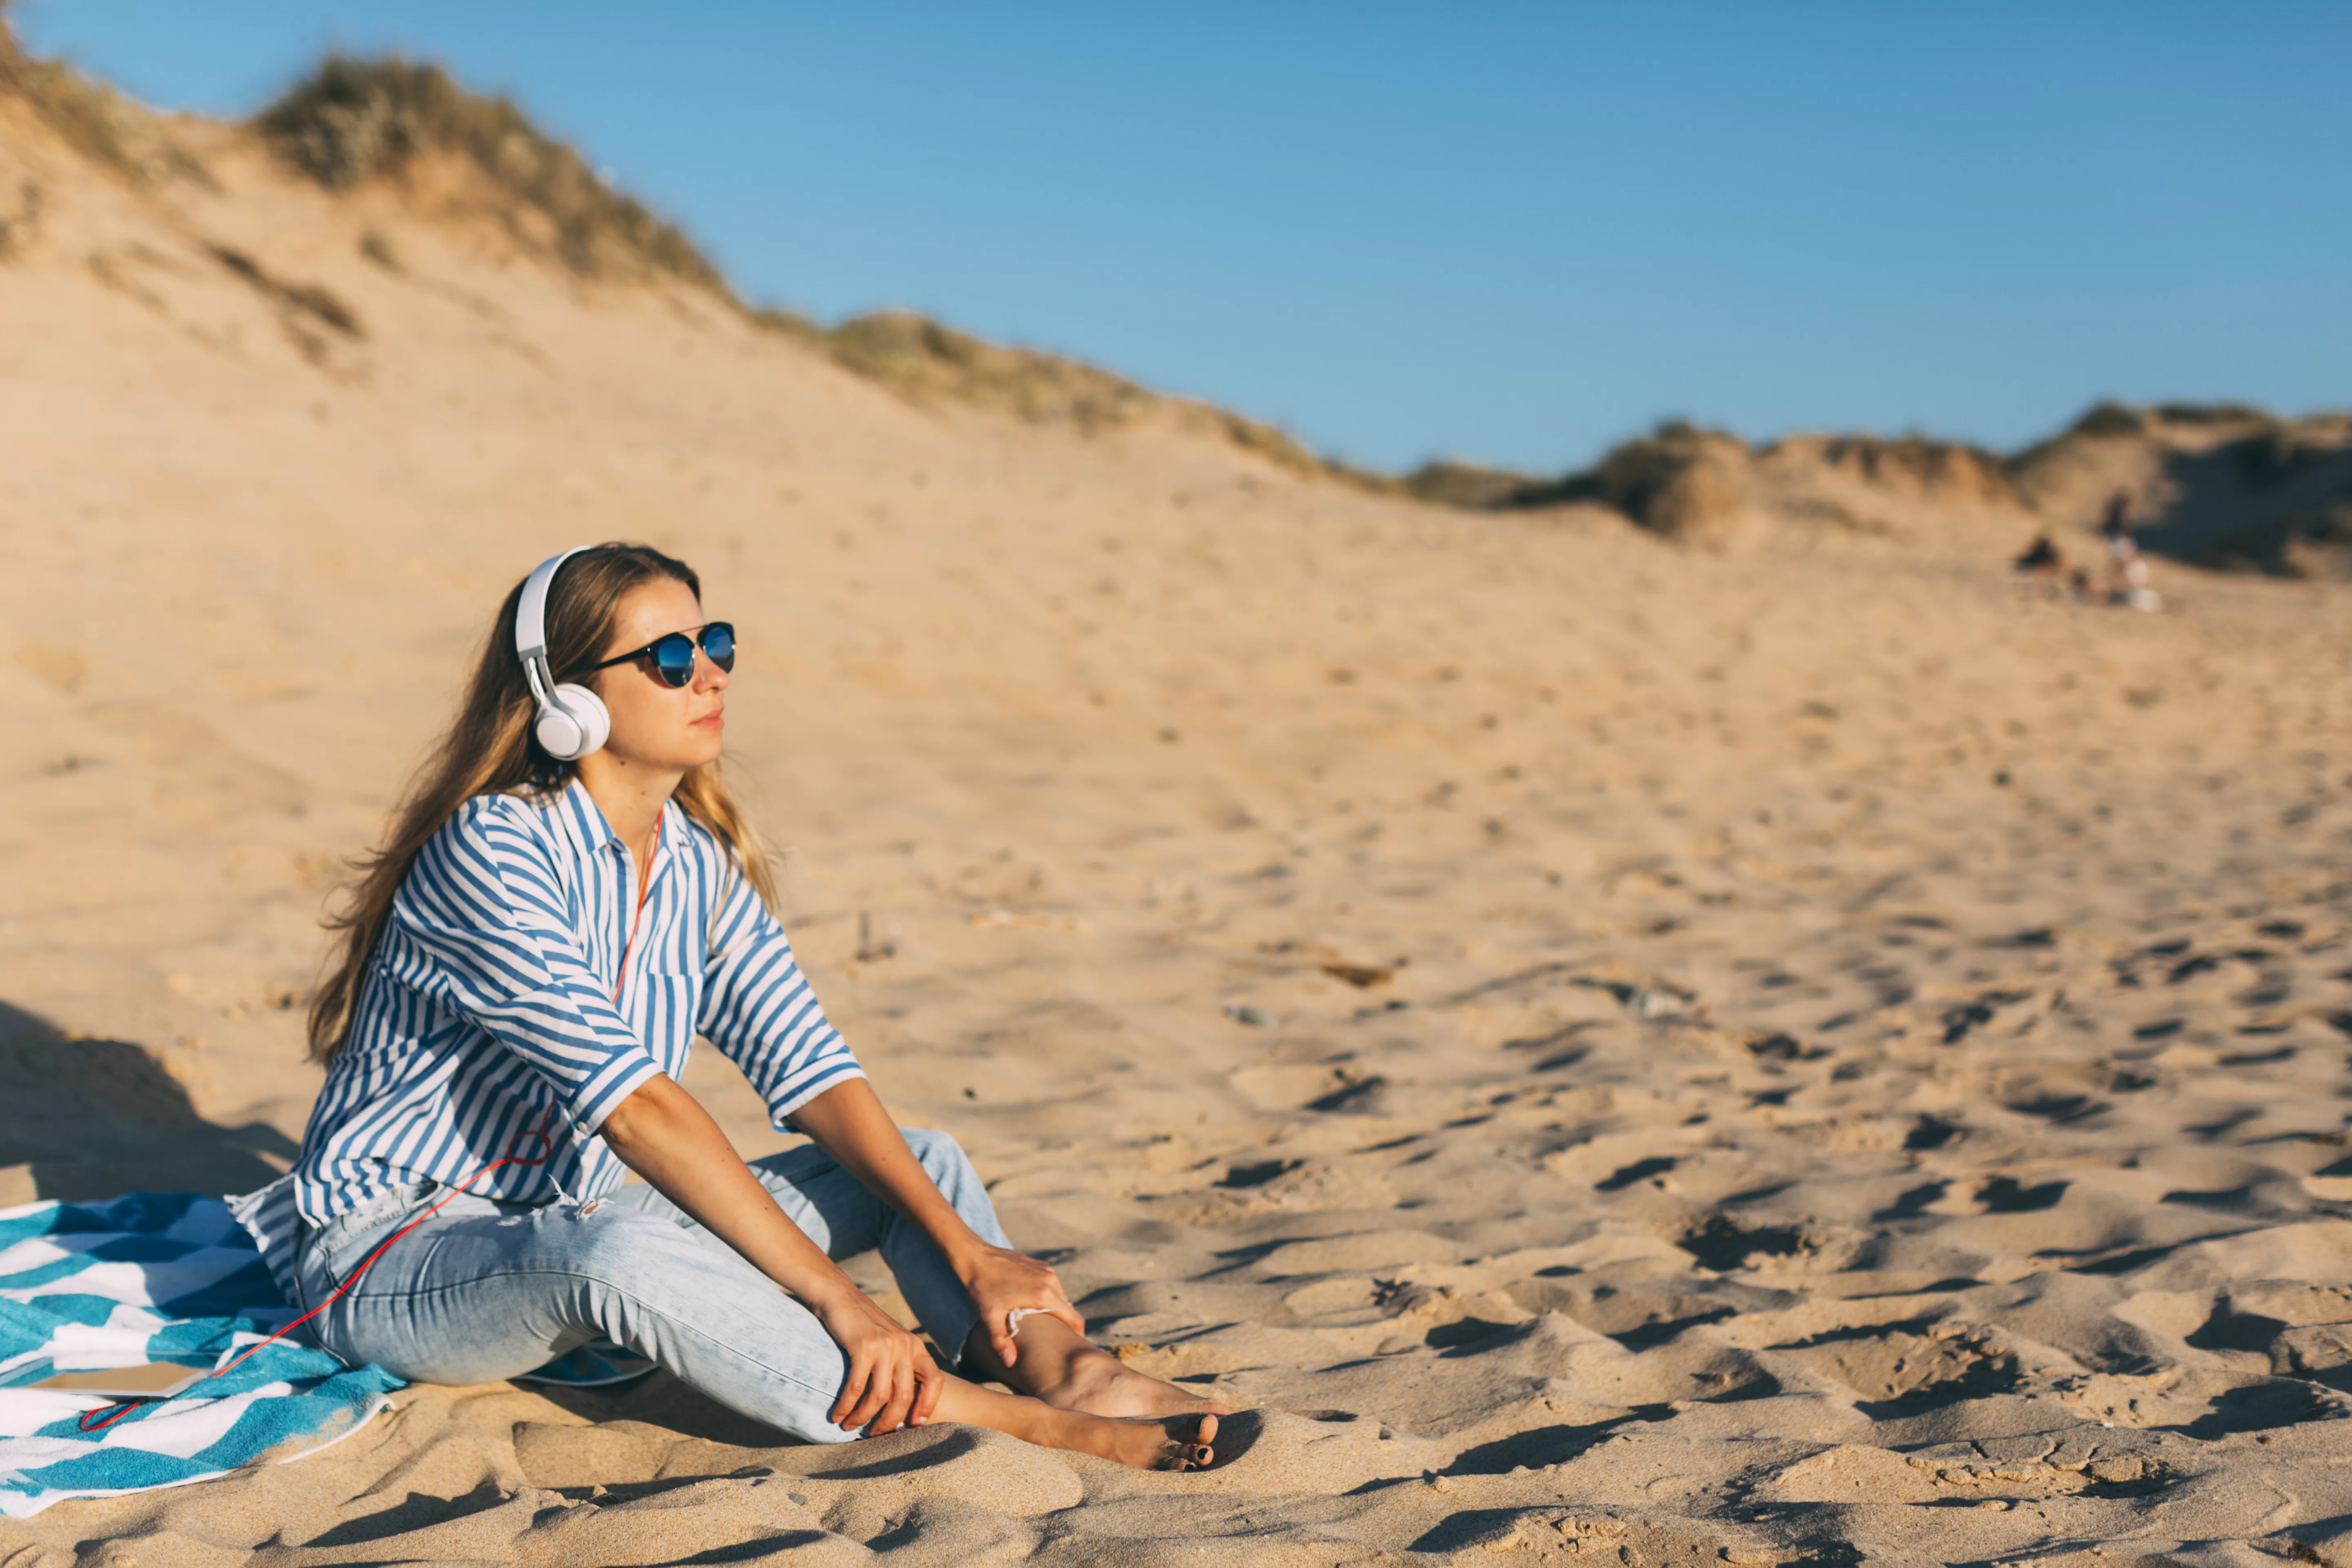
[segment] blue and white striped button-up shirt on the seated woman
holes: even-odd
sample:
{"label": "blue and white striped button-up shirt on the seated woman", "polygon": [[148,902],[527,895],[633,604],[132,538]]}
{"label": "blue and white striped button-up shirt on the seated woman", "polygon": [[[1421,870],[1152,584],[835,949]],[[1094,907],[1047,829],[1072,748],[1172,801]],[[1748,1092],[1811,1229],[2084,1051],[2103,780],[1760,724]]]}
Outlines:
{"label": "blue and white striped button-up shirt on the seated woman", "polygon": [[[517,1204],[614,1192],[597,1138],[701,1034],[776,1126],[866,1077],[826,1023],[783,926],[727,846],[675,802],[640,896],[637,865],[588,790],[477,795],[409,867],[350,1039],[310,1107],[294,1211],[310,1225],[400,1182],[461,1182]],[[548,1128],[548,1143],[529,1133]],[[263,1248],[268,1251],[268,1248]]]}

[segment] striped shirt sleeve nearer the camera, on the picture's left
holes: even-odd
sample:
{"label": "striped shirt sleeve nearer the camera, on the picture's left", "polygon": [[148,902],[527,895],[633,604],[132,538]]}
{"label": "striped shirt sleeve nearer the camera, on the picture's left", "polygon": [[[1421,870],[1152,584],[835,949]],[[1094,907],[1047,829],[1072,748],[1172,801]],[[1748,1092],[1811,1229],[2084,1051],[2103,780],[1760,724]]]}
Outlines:
{"label": "striped shirt sleeve nearer the camera, on the picture's left", "polygon": [[393,919],[430,961],[407,978],[539,1070],[595,1133],[661,1065],[590,969],[548,849],[515,811],[473,799],[416,858]]}

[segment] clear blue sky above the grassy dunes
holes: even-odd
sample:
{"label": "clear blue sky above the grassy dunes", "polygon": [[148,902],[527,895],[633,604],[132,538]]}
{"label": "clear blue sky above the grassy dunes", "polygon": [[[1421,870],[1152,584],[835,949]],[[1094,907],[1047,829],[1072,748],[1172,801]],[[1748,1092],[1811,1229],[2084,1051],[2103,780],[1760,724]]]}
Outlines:
{"label": "clear blue sky above the grassy dunes", "polygon": [[1682,414],[1990,444],[2352,402],[2352,5],[19,0],[252,113],[327,47],[510,92],[757,301],[913,306],[1336,456]]}

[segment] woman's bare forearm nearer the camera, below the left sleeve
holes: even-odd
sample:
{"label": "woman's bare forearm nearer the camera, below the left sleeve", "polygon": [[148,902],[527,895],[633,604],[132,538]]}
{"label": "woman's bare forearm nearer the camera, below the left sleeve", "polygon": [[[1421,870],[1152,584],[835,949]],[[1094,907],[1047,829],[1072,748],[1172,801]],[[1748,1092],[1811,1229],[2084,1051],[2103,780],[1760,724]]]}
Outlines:
{"label": "woman's bare forearm nearer the camera, below the left sleeve", "polygon": [[856,1293],[840,1265],[776,1208],[710,1112],[670,1077],[647,1079],[597,1131],[621,1164],[809,1307]]}

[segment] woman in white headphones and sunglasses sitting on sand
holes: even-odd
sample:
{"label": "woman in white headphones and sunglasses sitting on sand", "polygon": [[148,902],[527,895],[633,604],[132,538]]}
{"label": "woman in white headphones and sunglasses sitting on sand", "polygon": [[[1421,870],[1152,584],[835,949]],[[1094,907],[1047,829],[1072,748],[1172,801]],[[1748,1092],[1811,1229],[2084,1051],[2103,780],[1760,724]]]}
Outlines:
{"label": "woman in white headphones and sunglasses sitting on sand", "polygon": [[[506,595],[310,1009],[289,1239],[320,1342],[463,1385],[602,1335],[809,1441],[953,1420],[1207,1465],[1230,1410],[1089,1345],[955,1140],[901,1133],[826,1023],[720,778],[731,668],[694,571],[644,545]],[[593,691],[602,748],[593,703],[534,679]],[[696,1034],[814,1147],[746,1164],[677,1084]],[[941,1371],[833,1262],[870,1246],[941,1352],[1021,1394]]]}

